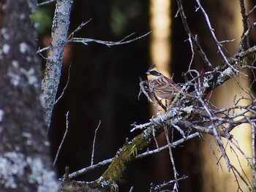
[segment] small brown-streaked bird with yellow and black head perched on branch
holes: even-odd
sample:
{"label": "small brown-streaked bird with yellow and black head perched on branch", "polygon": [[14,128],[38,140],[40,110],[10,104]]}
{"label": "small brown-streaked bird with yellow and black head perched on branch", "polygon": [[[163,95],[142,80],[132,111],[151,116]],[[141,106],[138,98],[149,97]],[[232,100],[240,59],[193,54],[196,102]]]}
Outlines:
{"label": "small brown-streaked bird with yellow and black head perched on branch", "polygon": [[159,72],[155,65],[151,66],[146,72],[148,78],[148,89],[161,99],[173,99],[181,93],[181,87],[173,80]]}

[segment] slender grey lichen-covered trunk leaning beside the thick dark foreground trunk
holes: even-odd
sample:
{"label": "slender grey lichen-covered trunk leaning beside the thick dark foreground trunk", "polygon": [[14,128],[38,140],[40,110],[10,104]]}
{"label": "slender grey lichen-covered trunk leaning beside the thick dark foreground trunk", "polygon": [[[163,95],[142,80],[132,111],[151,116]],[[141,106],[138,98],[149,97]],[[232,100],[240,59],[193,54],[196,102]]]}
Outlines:
{"label": "slender grey lichen-covered trunk leaning beside the thick dark foreground trunk", "polygon": [[56,1],[56,9],[53,18],[52,34],[45,75],[42,80],[43,99],[45,101],[46,123],[49,128],[56,93],[61,77],[61,64],[64,55],[64,46],[67,41],[69,29],[69,15],[72,1]]}

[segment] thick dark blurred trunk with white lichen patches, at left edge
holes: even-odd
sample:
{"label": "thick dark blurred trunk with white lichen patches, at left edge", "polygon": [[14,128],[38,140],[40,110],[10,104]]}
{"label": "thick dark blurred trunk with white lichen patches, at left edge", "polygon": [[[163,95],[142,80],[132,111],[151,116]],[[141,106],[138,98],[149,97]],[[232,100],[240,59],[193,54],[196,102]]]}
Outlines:
{"label": "thick dark blurred trunk with white lichen patches, at left edge", "polygon": [[6,1],[0,32],[0,191],[57,191],[40,104],[36,1]]}

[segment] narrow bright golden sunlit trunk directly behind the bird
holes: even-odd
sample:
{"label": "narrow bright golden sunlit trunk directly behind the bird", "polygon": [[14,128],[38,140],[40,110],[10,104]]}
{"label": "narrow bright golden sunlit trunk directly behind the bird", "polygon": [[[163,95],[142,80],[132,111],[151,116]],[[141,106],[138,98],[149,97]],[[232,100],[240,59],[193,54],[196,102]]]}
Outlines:
{"label": "narrow bright golden sunlit trunk directly behind the bird", "polygon": [[[171,45],[170,45],[170,1],[151,0],[150,2],[151,14],[151,64],[155,64],[160,72],[170,77],[170,60],[171,60]],[[150,64],[150,65],[151,65]],[[165,101],[163,101],[165,102]],[[151,108],[154,113],[154,109]],[[159,110],[163,112],[162,108]],[[165,135],[162,134],[157,138],[158,145],[164,145],[166,142]],[[170,175],[172,169],[167,169],[170,164],[170,158],[167,153],[162,154],[162,158],[156,158],[157,170],[154,170],[158,179],[165,180],[167,175]],[[153,163],[154,164],[154,163]]]}

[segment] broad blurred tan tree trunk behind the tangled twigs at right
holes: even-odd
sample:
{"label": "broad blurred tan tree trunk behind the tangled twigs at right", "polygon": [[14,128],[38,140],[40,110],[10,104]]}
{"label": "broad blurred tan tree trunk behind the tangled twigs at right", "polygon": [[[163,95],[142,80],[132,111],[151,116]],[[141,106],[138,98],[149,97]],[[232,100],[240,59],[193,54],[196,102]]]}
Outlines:
{"label": "broad blurred tan tree trunk behind the tangled twigs at right", "polygon": [[[235,39],[233,42],[227,42],[224,44],[227,49],[227,56],[235,53],[238,47],[238,41],[241,37],[242,33],[242,23],[241,23],[241,14],[240,8],[237,1],[229,0],[229,1],[205,1],[203,2],[206,7],[206,11],[211,19],[211,24],[215,29],[215,33],[217,34],[217,38],[219,41]],[[215,7],[212,9],[211,7]],[[202,30],[203,31],[203,30]],[[217,56],[216,45],[212,44],[211,35],[208,33],[200,34],[200,37],[203,38],[203,44],[208,50],[209,55],[211,55],[211,62],[213,64],[222,63],[222,58]],[[200,66],[197,66],[200,68]],[[244,88],[244,90],[248,90],[249,81],[245,80],[241,77],[233,78],[229,80],[224,85],[219,86],[210,96],[210,101],[216,107],[229,107],[234,104],[234,101],[237,101],[241,96],[245,96],[241,88],[239,88],[238,82]],[[236,96],[236,99],[235,99]],[[243,100],[244,101],[244,100]],[[244,105],[246,103],[239,104]],[[247,103],[248,104],[248,103]],[[231,132],[234,138],[237,140],[238,145],[240,145],[241,149],[244,150],[246,155],[251,155],[251,152],[246,149],[250,149],[250,128],[248,126],[239,126],[239,128],[234,128]],[[210,141],[210,142],[209,142]],[[225,142],[226,143],[226,142]],[[211,147],[214,147],[214,139],[208,139],[205,136],[205,141],[201,140],[201,157],[202,157],[202,167],[203,170],[203,191],[236,191],[238,188],[237,183],[235,182],[235,177],[232,172],[227,172],[227,167],[225,165],[225,161],[223,158],[221,160],[222,167],[217,166],[217,161],[219,160],[221,154],[218,149],[214,147],[214,153],[211,153]],[[226,146],[226,144],[225,144]],[[240,167],[242,166],[244,172],[247,175],[250,175],[249,166],[247,166],[246,161],[244,160],[241,153],[236,150],[230,151],[230,146],[227,145],[227,152],[230,155],[230,161],[233,163],[236,168],[241,172]],[[237,161],[236,154],[240,160],[240,164]],[[241,188],[246,191],[244,188],[244,183],[241,183]]]}

